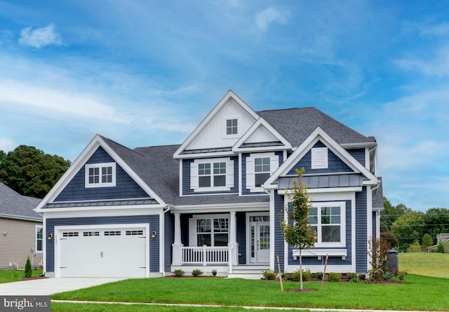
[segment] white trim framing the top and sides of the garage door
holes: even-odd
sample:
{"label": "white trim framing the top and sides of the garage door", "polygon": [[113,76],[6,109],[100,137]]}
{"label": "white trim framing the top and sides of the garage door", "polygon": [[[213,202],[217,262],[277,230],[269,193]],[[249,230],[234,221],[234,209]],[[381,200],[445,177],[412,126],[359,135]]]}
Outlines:
{"label": "white trim framing the top and sides of the garage door", "polygon": [[148,223],[130,223],[130,224],[87,224],[87,225],[68,225],[68,226],[55,226],[53,231],[53,240],[55,241],[54,247],[54,270],[55,277],[60,277],[60,244],[58,239],[62,231],[70,230],[84,230],[84,229],[145,229],[145,264],[147,269],[145,270],[145,277],[149,277],[149,224]]}

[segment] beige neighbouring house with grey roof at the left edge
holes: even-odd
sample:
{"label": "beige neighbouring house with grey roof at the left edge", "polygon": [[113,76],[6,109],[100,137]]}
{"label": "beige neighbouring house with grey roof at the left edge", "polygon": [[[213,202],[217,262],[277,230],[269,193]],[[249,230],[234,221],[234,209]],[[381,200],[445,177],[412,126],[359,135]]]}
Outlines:
{"label": "beige neighbouring house with grey roof at the left edge", "polygon": [[0,182],[0,269],[23,269],[27,257],[42,264],[42,217],[34,212],[40,201]]}

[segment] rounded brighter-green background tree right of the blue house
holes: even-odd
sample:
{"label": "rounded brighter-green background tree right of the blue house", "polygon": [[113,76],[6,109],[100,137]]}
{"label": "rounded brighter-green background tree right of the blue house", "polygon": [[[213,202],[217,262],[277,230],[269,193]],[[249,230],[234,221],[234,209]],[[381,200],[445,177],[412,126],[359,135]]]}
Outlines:
{"label": "rounded brighter-green background tree right of the blue house", "polygon": [[408,246],[422,238],[424,231],[424,213],[408,211],[391,224],[391,232],[398,238],[398,250],[406,252]]}

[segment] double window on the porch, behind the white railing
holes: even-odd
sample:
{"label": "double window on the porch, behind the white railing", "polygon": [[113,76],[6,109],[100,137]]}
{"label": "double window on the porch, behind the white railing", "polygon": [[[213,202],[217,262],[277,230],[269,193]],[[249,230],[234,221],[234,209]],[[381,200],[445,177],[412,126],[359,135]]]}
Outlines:
{"label": "double window on the porch, behind the white railing", "polygon": [[228,215],[194,216],[189,219],[190,246],[227,246],[228,242]]}

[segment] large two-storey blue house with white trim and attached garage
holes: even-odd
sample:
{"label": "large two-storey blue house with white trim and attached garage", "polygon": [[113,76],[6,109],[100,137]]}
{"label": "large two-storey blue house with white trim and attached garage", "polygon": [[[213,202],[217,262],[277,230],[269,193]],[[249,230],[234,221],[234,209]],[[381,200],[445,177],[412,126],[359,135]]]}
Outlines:
{"label": "large two-storey blue house with white trim and attached garage", "polygon": [[[157,135],[157,134],[155,134]],[[253,111],[232,91],[181,145],[128,149],[96,135],[37,206],[47,276],[293,272],[280,219],[295,169],[313,199],[311,271],[366,273],[379,237],[377,143],[313,107]]]}

